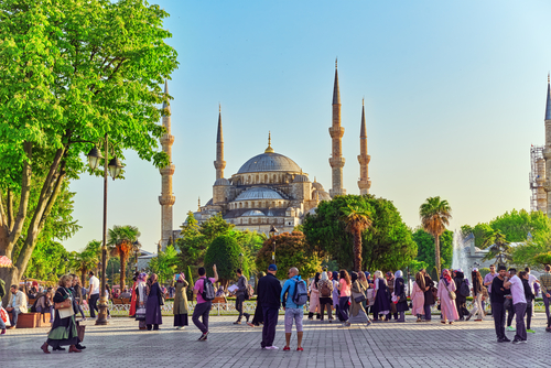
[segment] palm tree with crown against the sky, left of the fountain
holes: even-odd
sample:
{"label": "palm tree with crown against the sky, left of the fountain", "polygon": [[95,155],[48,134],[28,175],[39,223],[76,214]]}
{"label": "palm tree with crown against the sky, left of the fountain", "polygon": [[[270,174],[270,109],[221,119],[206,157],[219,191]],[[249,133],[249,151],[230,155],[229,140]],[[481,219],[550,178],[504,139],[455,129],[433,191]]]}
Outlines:
{"label": "palm tree with crown against the sky, left of the fountain", "polygon": [[423,229],[434,237],[434,257],[436,261],[436,272],[440,275],[440,236],[450,225],[452,218],[452,207],[445,199],[437,197],[426,198],[426,202],[419,207],[419,217]]}

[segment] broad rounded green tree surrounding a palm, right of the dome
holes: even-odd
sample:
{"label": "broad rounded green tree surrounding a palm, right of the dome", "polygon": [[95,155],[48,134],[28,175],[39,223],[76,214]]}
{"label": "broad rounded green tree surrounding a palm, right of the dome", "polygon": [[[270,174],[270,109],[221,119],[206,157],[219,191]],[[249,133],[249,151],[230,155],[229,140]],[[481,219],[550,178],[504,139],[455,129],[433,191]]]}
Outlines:
{"label": "broad rounded green tree surrounding a palm, right of the dome", "polygon": [[352,235],[339,220],[345,206],[370,208],[371,226],[361,232],[361,269],[396,271],[406,268],[417,256],[411,231],[392,202],[374,195],[344,195],[320,203],[315,215],[306,215],[302,227],[310,251],[334,259],[339,267],[352,269]]}

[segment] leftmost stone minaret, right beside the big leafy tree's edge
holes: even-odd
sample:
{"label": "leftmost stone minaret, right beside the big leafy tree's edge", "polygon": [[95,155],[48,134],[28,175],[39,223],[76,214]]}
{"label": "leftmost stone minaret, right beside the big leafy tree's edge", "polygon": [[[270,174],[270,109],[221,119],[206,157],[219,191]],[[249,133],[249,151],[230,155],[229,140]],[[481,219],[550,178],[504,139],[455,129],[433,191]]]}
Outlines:
{"label": "leftmost stone minaret, right beside the big leafy tree's edge", "polygon": [[[164,82],[164,94],[169,95],[169,83],[166,80]],[[172,239],[172,206],[176,197],[172,193],[172,175],[174,175],[172,144],[174,143],[174,136],[171,134],[171,108],[168,101],[163,102],[163,109],[168,110],[168,113],[163,113],[163,127],[166,129],[166,133],[161,137],[161,145],[171,162],[170,165],[160,170],[162,177],[162,192],[159,197],[161,204],[161,250],[164,251]]]}

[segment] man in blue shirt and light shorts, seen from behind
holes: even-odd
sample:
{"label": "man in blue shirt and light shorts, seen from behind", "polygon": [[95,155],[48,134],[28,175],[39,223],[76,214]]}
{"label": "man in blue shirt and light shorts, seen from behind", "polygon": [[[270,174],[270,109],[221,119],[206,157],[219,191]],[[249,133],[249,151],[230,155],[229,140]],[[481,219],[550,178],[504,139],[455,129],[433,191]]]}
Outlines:
{"label": "man in blue shirt and light shorts, seen from behind", "polygon": [[[289,270],[289,280],[285,281],[281,290],[281,303],[283,303],[283,311],[285,311],[285,347],[283,350],[291,350],[289,347],[291,343],[291,332],[293,328],[293,320],[296,323],[296,337],[298,337],[298,351],[303,351],[302,348],[302,318],[304,317],[304,309],[302,305],[296,305],[293,302],[293,294],[296,281],[301,280],[299,269],[295,267]],[[285,297],[287,293],[287,297]]]}

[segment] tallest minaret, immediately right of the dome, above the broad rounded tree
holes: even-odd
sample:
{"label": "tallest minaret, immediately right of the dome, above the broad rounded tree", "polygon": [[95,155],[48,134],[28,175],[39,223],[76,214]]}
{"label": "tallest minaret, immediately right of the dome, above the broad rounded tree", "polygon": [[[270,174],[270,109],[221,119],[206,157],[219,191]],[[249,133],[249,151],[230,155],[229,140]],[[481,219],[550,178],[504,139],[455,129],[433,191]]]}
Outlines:
{"label": "tallest minaret, immediately right of the dome, above the broad rounded tree", "polygon": [[343,158],[343,136],[344,128],[341,127],[341,93],[338,91],[338,72],[337,61],[335,59],[335,84],[333,86],[333,126],[329,128],[333,150],[329,159],[332,171],[332,188],[329,190],[331,197],[336,195],[345,195],[346,190],[343,187],[343,166],[345,159]]}

